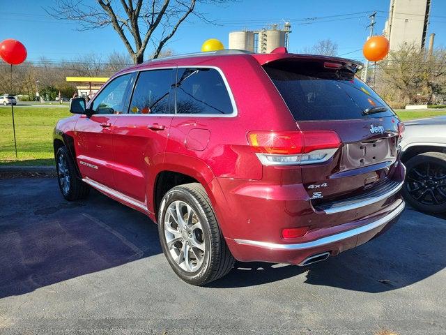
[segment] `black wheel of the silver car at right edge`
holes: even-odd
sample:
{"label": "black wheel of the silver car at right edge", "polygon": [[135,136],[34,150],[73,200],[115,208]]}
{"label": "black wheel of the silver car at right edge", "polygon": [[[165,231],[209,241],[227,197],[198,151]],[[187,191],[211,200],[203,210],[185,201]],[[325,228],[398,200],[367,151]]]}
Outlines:
{"label": "black wheel of the silver car at right edge", "polygon": [[[401,191],[404,200],[419,211],[446,212],[446,154],[425,152],[413,156],[406,162],[406,168],[406,181]],[[423,192],[425,194],[421,195]]]}

